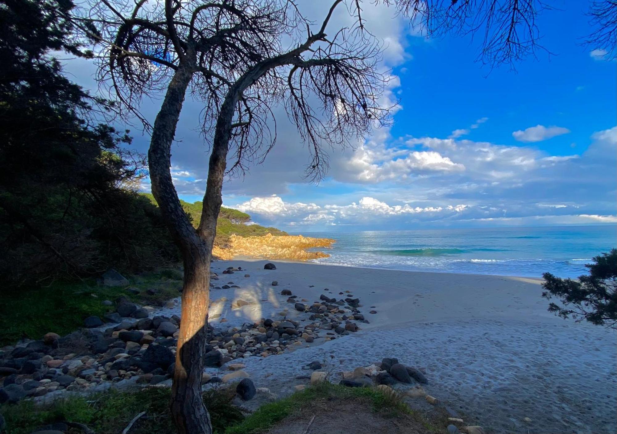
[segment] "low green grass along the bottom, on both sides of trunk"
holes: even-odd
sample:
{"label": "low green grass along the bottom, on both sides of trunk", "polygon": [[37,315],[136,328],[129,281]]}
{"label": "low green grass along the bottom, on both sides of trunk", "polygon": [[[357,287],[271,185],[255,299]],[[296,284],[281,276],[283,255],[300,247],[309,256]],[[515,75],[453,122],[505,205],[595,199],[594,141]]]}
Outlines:
{"label": "low green grass along the bottom, on both sides of trunk", "polygon": [[[349,388],[323,383],[298,391],[273,403],[264,404],[246,418],[231,405],[235,389],[206,391],[205,406],[210,413],[215,434],[255,434],[268,430],[286,417],[311,411],[320,401],[355,401],[384,416],[407,414],[429,431],[436,431],[420,414],[411,410],[399,396],[384,394],[377,388]],[[147,387],[128,391],[106,391],[92,395],[73,395],[49,404],[35,404],[25,399],[17,404],[0,406],[6,419],[7,434],[29,434],[36,428],[56,422],[79,422],[97,434],[117,434],[131,419],[145,411],[131,428],[131,434],[173,434],[176,432],[169,412],[169,388]]]}

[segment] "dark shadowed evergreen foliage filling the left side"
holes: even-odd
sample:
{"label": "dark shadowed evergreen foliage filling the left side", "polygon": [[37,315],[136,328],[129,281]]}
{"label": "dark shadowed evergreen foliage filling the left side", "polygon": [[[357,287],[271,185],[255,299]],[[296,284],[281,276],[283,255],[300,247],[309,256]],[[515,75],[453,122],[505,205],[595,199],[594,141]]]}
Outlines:
{"label": "dark shadowed evergreen foliage filling the left side", "polygon": [[48,282],[176,260],[159,211],[133,192],[145,161],[128,131],[49,54],[70,41],[67,0],[0,2],[0,279]]}

